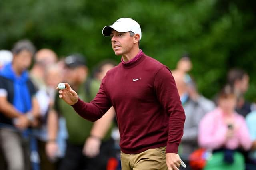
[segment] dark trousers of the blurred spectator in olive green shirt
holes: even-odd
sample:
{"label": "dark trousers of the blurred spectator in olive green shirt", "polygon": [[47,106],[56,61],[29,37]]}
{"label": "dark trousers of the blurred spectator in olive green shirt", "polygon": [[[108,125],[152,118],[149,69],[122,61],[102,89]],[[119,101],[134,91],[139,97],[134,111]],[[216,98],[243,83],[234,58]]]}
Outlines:
{"label": "dark trousers of the blurred spectator in olive green shirt", "polygon": [[108,160],[116,157],[112,139],[102,142],[100,154],[94,158],[84,156],[83,147],[67,142],[66,154],[60,162],[59,170],[106,170]]}

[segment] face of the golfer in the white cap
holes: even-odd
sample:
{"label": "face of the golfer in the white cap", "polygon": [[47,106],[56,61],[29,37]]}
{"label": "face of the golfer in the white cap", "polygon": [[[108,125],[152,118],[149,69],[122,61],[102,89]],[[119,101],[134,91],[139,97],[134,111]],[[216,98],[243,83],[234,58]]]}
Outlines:
{"label": "face of the golfer in the white cap", "polygon": [[134,37],[130,36],[130,32],[117,32],[116,30],[112,30],[110,37],[112,49],[116,55],[129,53],[134,45]]}

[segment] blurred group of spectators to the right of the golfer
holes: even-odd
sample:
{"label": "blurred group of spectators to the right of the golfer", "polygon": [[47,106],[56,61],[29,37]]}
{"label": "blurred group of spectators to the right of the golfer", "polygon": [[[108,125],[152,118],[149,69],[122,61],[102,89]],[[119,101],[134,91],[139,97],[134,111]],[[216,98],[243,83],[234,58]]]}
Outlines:
{"label": "blurred group of spectators to the right of the golfer", "polygon": [[255,170],[255,104],[244,98],[248,74],[228,71],[226,84],[210,100],[198,92],[191,69],[184,55],[172,71],[186,115],[179,148],[186,170]]}

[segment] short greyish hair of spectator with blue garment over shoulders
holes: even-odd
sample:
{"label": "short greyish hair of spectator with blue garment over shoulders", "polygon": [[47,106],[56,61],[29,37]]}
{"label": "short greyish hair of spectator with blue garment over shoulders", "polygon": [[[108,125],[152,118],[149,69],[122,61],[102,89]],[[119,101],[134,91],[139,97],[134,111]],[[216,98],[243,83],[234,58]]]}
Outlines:
{"label": "short greyish hair of spectator with blue garment over shoulders", "polygon": [[24,50],[29,51],[32,55],[36,53],[36,47],[27,39],[16,42],[12,48],[12,53],[16,55]]}

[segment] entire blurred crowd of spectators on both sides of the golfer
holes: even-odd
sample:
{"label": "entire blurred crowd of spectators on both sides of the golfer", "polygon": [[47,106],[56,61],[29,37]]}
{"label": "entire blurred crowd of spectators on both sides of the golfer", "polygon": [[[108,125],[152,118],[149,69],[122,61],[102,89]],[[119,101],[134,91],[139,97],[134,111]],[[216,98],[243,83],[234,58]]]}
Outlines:
{"label": "entire blurred crowd of spectators on both sides of the golfer", "polygon": [[[113,107],[92,123],[56,91],[67,82],[89,102],[115,65],[105,60],[89,71],[85,56],[58,57],[52,49],[36,50],[29,40],[0,50],[0,169],[120,170]],[[207,99],[189,74],[192,67],[183,55],[172,70],[186,115],[179,147],[186,169],[255,170],[256,106],[244,98],[248,74],[231,69],[226,85]]]}

